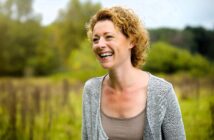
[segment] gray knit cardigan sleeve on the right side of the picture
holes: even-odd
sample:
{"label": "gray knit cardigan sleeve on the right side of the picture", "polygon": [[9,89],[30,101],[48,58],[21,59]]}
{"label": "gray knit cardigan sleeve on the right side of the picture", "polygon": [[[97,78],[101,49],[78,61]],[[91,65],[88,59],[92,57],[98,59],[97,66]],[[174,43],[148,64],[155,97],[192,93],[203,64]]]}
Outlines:
{"label": "gray knit cardigan sleeve on the right side of the picture", "polygon": [[162,133],[165,140],[186,139],[180,106],[172,86],[167,94],[167,109],[162,124]]}

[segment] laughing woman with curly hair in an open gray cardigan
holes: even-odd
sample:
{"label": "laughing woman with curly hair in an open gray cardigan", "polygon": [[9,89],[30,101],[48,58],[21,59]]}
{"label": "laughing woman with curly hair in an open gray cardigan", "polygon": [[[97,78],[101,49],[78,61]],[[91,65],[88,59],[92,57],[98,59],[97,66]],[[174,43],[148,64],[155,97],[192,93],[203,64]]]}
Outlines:
{"label": "laughing woman with curly hair in an open gray cardigan", "polygon": [[172,85],[139,68],[149,40],[139,18],[122,7],[101,9],[87,29],[108,74],[85,83],[82,139],[185,139]]}

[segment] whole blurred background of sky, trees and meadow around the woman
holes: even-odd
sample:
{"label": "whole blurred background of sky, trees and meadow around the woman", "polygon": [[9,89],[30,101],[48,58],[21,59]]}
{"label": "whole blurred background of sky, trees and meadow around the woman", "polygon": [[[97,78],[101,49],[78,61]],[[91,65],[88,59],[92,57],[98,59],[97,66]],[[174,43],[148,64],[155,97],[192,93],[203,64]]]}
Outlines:
{"label": "whole blurred background of sky, trees and meadow around the woman", "polygon": [[151,46],[142,69],[173,83],[188,140],[214,139],[212,0],[0,0],[0,140],[81,139],[84,82],[106,73],[86,38],[101,7],[132,8]]}

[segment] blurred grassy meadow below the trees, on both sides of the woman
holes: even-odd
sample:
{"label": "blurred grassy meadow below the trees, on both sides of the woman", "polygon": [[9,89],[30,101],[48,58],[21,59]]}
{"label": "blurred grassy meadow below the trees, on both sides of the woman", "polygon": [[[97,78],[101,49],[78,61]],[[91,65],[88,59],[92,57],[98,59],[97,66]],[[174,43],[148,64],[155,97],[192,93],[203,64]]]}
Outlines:
{"label": "blurred grassy meadow below the trees, on both sides of the woman", "polygon": [[[175,87],[187,139],[213,139],[214,79],[161,76]],[[1,78],[0,139],[81,139],[82,87],[72,79]]]}

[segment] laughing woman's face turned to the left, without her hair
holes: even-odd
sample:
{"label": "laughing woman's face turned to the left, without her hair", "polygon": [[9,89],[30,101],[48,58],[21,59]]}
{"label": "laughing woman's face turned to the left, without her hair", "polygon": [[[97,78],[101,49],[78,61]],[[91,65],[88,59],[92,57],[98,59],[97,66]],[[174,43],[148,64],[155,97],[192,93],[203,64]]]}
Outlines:
{"label": "laughing woman's face turned to the left, without her hair", "polygon": [[112,21],[98,21],[92,34],[93,51],[103,68],[113,69],[131,64],[133,45]]}

